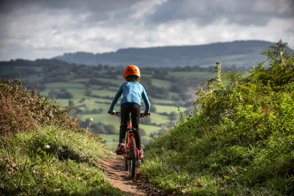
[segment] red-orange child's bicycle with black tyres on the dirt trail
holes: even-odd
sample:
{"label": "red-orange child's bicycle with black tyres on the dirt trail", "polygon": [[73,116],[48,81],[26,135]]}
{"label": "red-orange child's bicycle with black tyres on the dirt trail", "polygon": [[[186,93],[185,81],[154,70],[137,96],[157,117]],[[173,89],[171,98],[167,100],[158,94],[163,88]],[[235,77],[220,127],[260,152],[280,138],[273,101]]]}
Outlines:
{"label": "red-orange child's bicycle with black tyres on the dirt trail", "polygon": [[[110,113],[108,111],[108,113]],[[120,112],[116,112],[115,113],[117,116],[120,116],[121,113]],[[145,114],[147,116],[150,115],[150,113],[146,113]],[[143,113],[141,113],[140,118],[144,117]],[[133,179],[136,173],[136,166],[140,166],[141,165],[141,158],[139,156],[139,150],[136,147],[136,142],[135,142],[135,138],[134,138],[134,133],[133,131],[135,131],[136,129],[131,127],[131,114],[129,115],[128,118],[128,128],[127,128],[127,140],[126,140],[126,148],[125,151],[122,153],[116,153],[117,155],[125,155],[126,158],[126,168],[125,170],[128,171],[130,173],[130,178]]]}

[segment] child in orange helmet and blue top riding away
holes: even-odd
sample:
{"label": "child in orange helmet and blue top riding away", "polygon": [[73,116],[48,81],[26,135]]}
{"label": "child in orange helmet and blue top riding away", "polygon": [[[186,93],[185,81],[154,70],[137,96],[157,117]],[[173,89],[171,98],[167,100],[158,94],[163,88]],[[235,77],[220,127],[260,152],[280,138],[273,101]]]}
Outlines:
{"label": "child in orange helmet and blue top riding away", "polygon": [[124,151],[126,131],[128,128],[128,117],[131,113],[132,127],[136,129],[136,131],[134,131],[134,138],[139,150],[139,156],[142,159],[144,158],[144,155],[143,149],[141,148],[141,135],[139,129],[141,98],[143,98],[145,103],[145,111],[143,112],[143,116],[146,116],[146,113],[149,113],[150,103],[144,87],[139,83],[141,75],[137,66],[127,66],[123,71],[123,77],[127,82],[123,83],[118,89],[109,108],[110,115],[115,115],[114,107],[118,102],[118,99],[121,97],[121,94],[123,94],[123,98],[121,99],[121,126],[119,127],[119,144],[117,146],[116,153]]}

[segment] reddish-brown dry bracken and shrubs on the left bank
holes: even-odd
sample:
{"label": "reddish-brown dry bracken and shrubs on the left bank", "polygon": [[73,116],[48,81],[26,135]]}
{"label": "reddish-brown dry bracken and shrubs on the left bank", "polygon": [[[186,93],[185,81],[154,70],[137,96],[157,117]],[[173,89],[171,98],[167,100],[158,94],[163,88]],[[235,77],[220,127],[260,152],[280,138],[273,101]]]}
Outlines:
{"label": "reddish-brown dry bracken and shrubs on the left bank", "polygon": [[0,78],[0,135],[39,130],[38,125],[60,125],[79,129],[79,121],[70,115],[71,108],[63,109],[54,100],[38,94],[36,87],[22,86],[20,79],[10,83],[8,76]]}

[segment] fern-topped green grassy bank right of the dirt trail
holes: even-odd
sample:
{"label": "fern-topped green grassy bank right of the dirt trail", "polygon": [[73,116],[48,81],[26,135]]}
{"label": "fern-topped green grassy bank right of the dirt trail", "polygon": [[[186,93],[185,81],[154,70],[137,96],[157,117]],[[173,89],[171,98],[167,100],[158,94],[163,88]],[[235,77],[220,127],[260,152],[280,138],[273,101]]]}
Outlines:
{"label": "fern-topped green grassy bank right of the dirt trail", "polygon": [[293,195],[294,56],[286,44],[263,51],[271,67],[259,63],[246,77],[221,75],[216,63],[217,78],[196,93],[198,112],[180,112],[146,145],[142,174],[178,195]]}

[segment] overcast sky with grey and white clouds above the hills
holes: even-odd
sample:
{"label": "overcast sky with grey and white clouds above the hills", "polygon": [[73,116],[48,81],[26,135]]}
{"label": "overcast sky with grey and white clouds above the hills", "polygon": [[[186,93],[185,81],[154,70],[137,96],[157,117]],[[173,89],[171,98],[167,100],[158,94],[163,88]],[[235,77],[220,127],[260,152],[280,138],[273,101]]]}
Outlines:
{"label": "overcast sky with grey and white clouds above the hills", "polygon": [[0,61],[279,39],[294,49],[294,0],[0,0]]}

